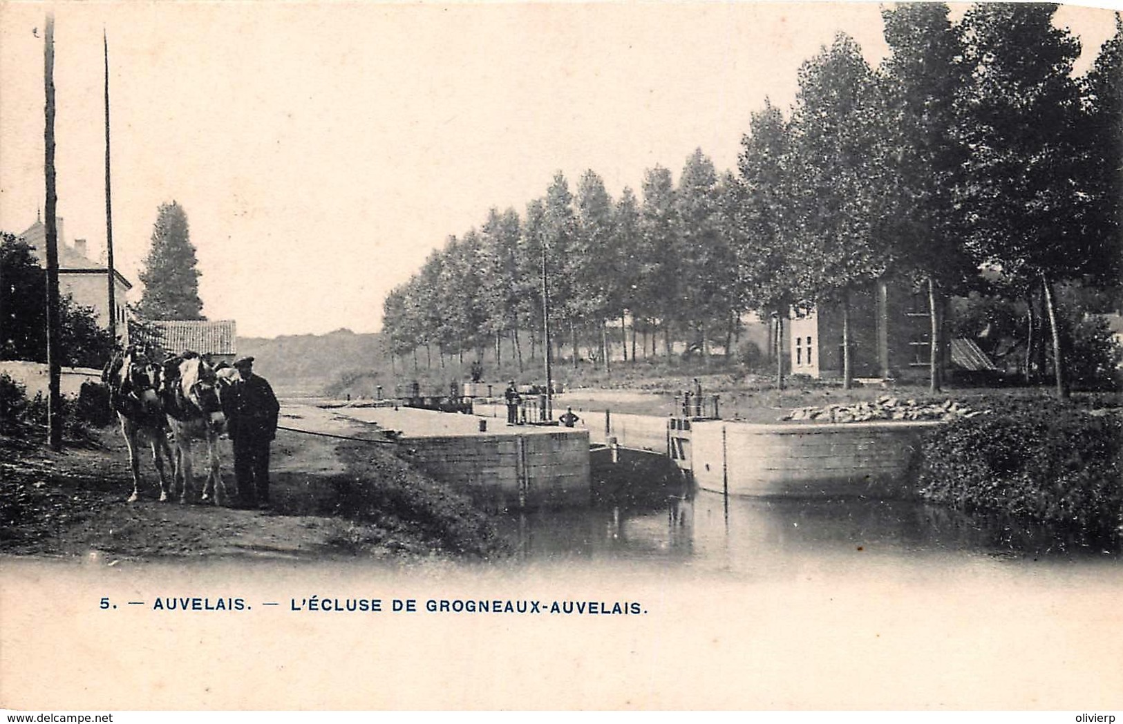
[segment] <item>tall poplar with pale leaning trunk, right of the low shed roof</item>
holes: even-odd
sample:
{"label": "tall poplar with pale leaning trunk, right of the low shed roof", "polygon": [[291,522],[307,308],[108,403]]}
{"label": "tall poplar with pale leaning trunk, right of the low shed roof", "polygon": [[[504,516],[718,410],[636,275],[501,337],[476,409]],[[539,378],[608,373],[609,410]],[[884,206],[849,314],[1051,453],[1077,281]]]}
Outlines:
{"label": "tall poplar with pale leaning trunk, right of the low shed roof", "polygon": [[960,98],[970,150],[961,203],[978,256],[1040,285],[1056,390],[1065,397],[1054,284],[1095,275],[1107,255],[1105,237],[1089,232],[1098,193],[1087,173],[1087,120],[1071,76],[1080,43],[1053,27],[1056,10],[986,3],[964,17],[971,82]]}

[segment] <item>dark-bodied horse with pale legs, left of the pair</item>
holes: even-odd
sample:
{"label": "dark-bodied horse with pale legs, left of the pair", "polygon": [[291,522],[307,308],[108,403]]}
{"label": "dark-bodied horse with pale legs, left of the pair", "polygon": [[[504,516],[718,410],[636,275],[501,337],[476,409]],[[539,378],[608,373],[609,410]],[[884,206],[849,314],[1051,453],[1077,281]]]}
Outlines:
{"label": "dark-bodied horse with pale legs, left of the pair", "polygon": [[101,372],[101,381],[109,387],[109,404],[121,424],[125,446],[129,450],[129,468],[133,470],[133,494],[129,503],[135,503],[140,493],[140,462],[138,445],[148,442],[152,459],[159,473],[159,500],[167,500],[167,475],[164,473],[164,456],[172,459],[167,447],[167,419],[159,397],[161,367],[129,346],[118,351]]}

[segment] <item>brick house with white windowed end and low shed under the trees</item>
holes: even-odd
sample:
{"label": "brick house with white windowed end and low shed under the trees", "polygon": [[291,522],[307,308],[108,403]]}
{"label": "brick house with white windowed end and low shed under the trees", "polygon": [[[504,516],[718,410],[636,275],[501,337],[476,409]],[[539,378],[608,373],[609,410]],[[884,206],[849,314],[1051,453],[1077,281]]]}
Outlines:
{"label": "brick house with white windowed end and low shed under the trees", "polygon": [[[973,340],[944,340],[947,368],[990,373],[997,368]],[[796,311],[789,324],[792,373],[842,376],[842,306]],[[928,292],[880,279],[850,294],[850,360],[853,377],[920,378],[929,374],[931,322]]]}

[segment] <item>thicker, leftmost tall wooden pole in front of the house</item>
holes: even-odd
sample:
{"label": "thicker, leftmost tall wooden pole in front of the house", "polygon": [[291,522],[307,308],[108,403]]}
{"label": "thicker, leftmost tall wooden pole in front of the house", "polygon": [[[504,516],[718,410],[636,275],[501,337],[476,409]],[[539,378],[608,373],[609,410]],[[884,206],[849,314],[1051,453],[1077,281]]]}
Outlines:
{"label": "thicker, leftmost tall wooden pole in front of the house", "polygon": [[52,450],[63,448],[62,349],[58,343],[58,228],[55,219],[58,199],[55,194],[55,17],[47,13],[47,31],[43,51],[43,84],[46,92],[46,128],[44,140],[44,175],[46,176],[47,214],[47,443]]}

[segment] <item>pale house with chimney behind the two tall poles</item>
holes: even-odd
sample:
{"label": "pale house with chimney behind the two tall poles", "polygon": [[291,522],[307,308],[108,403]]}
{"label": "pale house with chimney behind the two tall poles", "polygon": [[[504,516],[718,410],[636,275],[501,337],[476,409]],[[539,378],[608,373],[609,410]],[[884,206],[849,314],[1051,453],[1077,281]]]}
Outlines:
{"label": "pale house with chimney behind the two tall poles", "polygon": [[[109,329],[109,314],[117,315],[117,337],[127,339],[128,317],[125,313],[128,292],[133,284],[113,269],[115,311],[109,309],[109,267],[103,262],[94,262],[88,257],[89,248],[85,239],[74,239],[73,245],[66,244],[63,235],[63,220],[55,218],[58,230],[58,292],[70,294],[75,304],[93,309],[98,323]],[[19,235],[31,247],[39,266],[47,266],[47,226],[42,219]]]}

